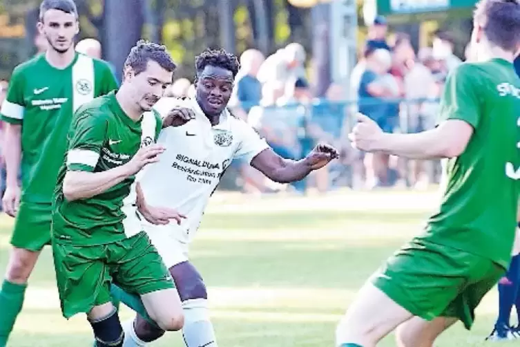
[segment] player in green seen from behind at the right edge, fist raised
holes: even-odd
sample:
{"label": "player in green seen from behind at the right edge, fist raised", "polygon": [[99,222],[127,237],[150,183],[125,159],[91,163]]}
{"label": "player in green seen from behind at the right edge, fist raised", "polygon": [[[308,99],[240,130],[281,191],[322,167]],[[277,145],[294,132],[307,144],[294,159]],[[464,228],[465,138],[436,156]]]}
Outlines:
{"label": "player in green seen from behind at the right edge, fist raised", "polygon": [[391,256],[358,293],[336,331],[338,346],[373,347],[396,329],[398,346],[430,347],[474,309],[511,260],[520,179],[520,3],[482,0],[474,13],[476,60],[447,77],[435,129],[383,133],[358,115],[350,138],[363,151],[448,158],[443,198],[425,231]]}

